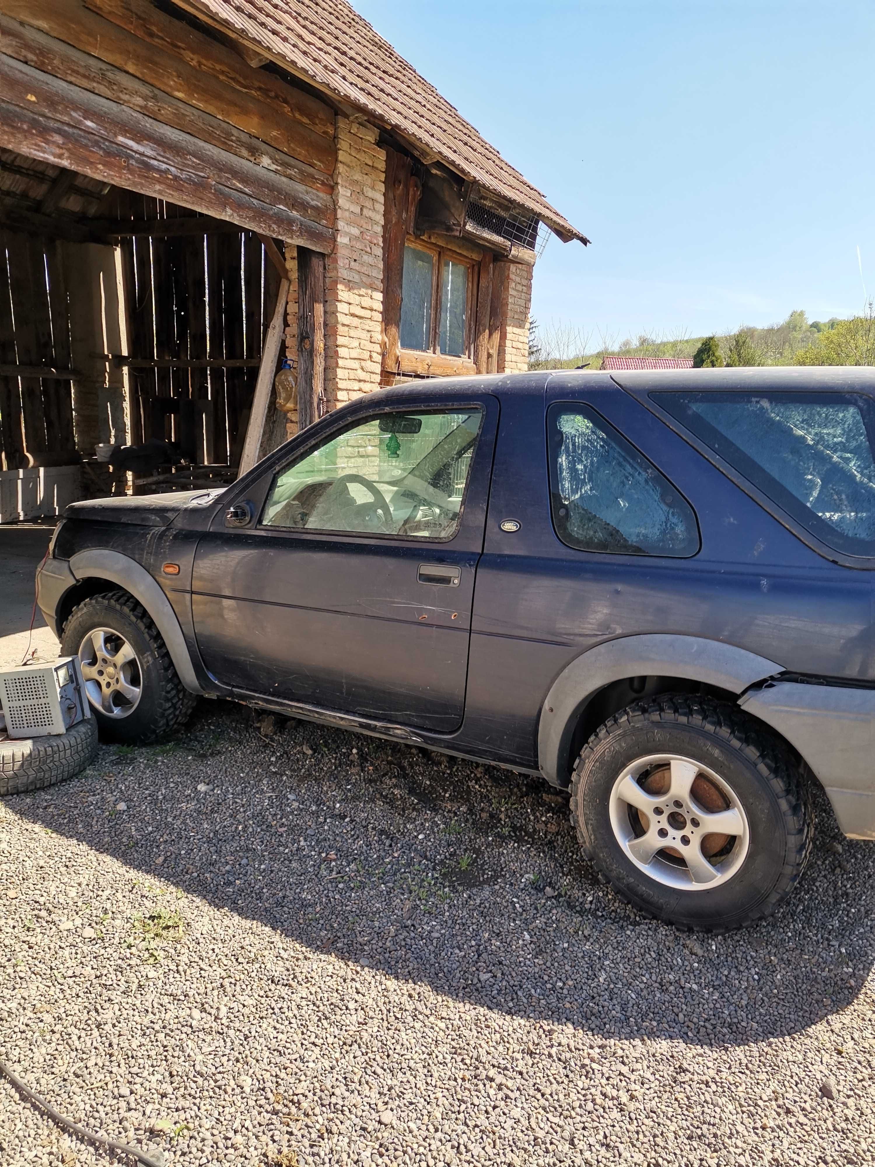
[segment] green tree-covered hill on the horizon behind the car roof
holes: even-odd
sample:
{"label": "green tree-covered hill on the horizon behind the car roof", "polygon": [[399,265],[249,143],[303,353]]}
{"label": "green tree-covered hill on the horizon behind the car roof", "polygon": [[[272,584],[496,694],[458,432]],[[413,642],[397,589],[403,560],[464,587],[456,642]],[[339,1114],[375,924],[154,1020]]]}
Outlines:
{"label": "green tree-covered hill on the horizon behind the car roof", "polygon": [[[808,321],[805,312],[791,312],[786,320],[768,328],[741,326],[735,333],[718,336],[721,354],[726,359],[738,334],[750,342],[758,364],[793,364],[796,355],[814,343],[818,335],[840,323],[838,316],[831,320]],[[612,338],[602,337],[595,348],[592,337],[566,326],[541,329],[537,321],[530,329],[530,369],[575,369],[588,365],[598,369],[606,356],[624,357],[692,357],[705,340],[704,336],[653,337],[640,335],[629,337],[614,345]],[[746,362],[748,363],[748,362]]]}

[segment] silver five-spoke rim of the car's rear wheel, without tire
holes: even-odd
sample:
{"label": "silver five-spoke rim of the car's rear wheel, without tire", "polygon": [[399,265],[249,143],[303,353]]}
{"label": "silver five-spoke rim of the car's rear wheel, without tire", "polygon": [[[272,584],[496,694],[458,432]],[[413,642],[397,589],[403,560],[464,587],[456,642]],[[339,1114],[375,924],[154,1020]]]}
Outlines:
{"label": "silver five-spoke rim of the car's rear wheel, without tire", "polygon": [[666,887],[705,892],[744,862],[744,808],[716,771],[679,754],[651,754],[623,769],[610,822],[626,858]]}

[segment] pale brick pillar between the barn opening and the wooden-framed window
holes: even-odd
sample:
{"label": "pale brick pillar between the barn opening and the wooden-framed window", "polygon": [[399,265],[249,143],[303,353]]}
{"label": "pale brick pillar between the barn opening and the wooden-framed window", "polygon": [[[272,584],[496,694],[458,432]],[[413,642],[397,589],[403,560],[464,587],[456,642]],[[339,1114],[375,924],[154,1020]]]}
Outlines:
{"label": "pale brick pillar between the barn opening and the wooden-framed window", "polygon": [[379,387],[386,155],[374,126],[337,117],[336,245],[326,280],[326,397],[335,408]]}

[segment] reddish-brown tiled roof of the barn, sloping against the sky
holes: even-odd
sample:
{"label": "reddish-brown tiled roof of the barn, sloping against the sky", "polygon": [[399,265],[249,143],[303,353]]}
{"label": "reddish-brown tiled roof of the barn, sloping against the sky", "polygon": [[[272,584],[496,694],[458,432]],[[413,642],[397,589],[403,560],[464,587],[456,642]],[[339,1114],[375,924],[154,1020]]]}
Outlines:
{"label": "reddish-brown tiled roof of the barn, sloping against the sky", "polygon": [[313,85],[523,207],[565,239],[589,240],[505,162],[345,0],[181,0]]}

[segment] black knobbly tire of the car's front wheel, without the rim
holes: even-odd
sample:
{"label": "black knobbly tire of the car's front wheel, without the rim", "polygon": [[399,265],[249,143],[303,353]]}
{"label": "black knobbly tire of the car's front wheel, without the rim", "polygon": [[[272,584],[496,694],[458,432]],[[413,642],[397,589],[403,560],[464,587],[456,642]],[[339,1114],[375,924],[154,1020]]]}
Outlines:
{"label": "black knobbly tire of the car's front wheel, without the rim", "polygon": [[184,725],[197,698],[183,687],[167,645],[142,605],[120,591],[83,600],[64,624],[62,655],[77,656],[83,640],[94,628],[111,628],[124,636],[136,652],[142,673],[142,694],[128,717],[108,718],[91,706],[100,736],[145,745]]}

